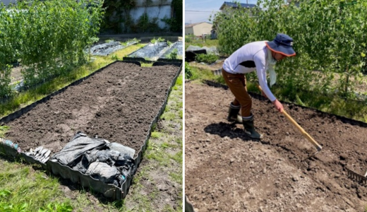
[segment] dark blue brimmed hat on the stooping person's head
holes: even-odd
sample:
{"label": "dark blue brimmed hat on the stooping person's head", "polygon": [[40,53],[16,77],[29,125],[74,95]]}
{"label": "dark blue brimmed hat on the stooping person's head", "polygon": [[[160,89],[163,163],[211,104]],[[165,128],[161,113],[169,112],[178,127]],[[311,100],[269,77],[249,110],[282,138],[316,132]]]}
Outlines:
{"label": "dark blue brimmed hat on the stooping person's head", "polygon": [[274,40],[265,42],[265,44],[272,52],[277,52],[287,57],[296,55],[293,49],[293,39],[288,35],[278,33]]}

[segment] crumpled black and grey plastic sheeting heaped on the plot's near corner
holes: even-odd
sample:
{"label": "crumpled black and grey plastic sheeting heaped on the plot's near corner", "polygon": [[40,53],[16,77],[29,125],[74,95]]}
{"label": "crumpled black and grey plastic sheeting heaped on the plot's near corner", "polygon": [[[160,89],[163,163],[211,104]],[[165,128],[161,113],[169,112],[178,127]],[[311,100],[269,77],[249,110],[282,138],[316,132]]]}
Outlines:
{"label": "crumpled black and grey plastic sheeting heaped on the plot's near corner", "polygon": [[59,153],[52,155],[51,160],[104,183],[121,187],[126,177],[131,177],[136,172],[135,162],[130,156],[135,151],[131,152],[131,148],[119,143],[112,146],[120,147],[115,149],[128,150],[128,153],[114,151],[109,148],[110,144],[107,140],[93,139],[78,132]]}

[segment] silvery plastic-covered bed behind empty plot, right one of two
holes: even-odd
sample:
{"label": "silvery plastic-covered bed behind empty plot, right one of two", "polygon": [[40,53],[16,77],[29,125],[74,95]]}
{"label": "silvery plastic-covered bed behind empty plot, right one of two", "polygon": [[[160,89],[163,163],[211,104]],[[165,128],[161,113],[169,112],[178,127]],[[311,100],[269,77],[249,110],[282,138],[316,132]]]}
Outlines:
{"label": "silvery plastic-covered bed behind empty plot, right one of two", "polygon": [[124,60],[143,62],[157,61],[157,59],[160,58],[168,48],[169,45],[167,42],[155,42],[155,44],[150,43],[145,47],[136,50],[136,52],[128,54],[128,56],[124,57]]}

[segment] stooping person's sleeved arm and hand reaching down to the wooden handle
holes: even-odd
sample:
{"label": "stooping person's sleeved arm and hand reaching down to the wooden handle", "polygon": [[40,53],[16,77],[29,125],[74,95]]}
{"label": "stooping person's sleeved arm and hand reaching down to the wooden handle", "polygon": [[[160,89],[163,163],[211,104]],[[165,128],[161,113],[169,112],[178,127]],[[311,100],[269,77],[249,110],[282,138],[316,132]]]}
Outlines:
{"label": "stooping person's sleeved arm and hand reaching down to the wooden handle", "polygon": [[[261,55],[260,55],[261,56]],[[267,96],[267,98],[272,102],[275,108],[279,112],[283,112],[284,108],[282,103],[280,103],[277,98],[272,94],[272,91],[267,86],[267,79],[266,79],[266,66],[265,66],[265,54],[262,57],[255,57],[255,66],[256,66],[256,73],[258,74],[258,80],[260,87],[263,88],[263,93]]]}

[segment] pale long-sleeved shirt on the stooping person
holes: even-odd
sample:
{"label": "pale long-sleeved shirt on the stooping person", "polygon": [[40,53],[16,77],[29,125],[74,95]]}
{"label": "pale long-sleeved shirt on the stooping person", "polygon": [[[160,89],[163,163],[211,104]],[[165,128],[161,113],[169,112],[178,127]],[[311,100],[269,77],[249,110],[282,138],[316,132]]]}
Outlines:
{"label": "pale long-sleeved shirt on the stooping person", "polygon": [[267,86],[266,70],[269,66],[268,49],[265,41],[251,42],[239,48],[223,64],[228,73],[250,73],[256,70],[261,88],[270,101],[276,100]]}

